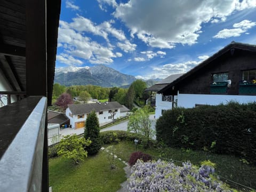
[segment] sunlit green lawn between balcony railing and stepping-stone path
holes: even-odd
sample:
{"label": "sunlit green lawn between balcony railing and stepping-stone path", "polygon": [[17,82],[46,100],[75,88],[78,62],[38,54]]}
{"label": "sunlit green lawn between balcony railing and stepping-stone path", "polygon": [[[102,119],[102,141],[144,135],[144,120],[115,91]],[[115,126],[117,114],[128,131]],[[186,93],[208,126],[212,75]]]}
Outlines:
{"label": "sunlit green lawn between balcony railing and stepping-stone path", "polygon": [[122,162],[116,161],[116,169],[110,165],[103,151],[87,157],[85,162],[74,165],[63,158],[49,159],[50,186],[53,191],[117,191],[126,180]]}

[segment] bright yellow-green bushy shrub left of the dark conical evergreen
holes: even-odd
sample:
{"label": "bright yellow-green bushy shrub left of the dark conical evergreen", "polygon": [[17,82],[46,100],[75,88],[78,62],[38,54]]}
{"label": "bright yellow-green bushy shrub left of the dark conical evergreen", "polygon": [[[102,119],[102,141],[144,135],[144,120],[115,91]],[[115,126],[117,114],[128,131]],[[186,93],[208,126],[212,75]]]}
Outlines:
{"label": "bright yellow-green bushy shrub left of the dark conical evergreen", "polygon": [[75,164],[84,161],[87,157],[87,151],[84,146],[90,146],[92,141],[85,138],[78,138],[76,134],[66,135],[58,144],[59,156],[72,159]]}

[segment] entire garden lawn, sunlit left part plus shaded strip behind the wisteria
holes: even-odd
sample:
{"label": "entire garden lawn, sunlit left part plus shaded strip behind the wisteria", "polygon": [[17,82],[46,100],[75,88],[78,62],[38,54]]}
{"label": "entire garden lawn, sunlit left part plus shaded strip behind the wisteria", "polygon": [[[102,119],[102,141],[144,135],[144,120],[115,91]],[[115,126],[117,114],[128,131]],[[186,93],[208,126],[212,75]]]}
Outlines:
{"label": "entire garden lawn, sunlit left part plus shaded strip behind the wisteria", "polygon": [[[106,146],[105,146],[106,147]],[[122,141],[114,144],[116,155],[124,161],[129,161],[131,153],[135,151],[133,141]],[[202,161],[210,160],[217,165],[217,174],[242,185],[256,188],[256,167],[246,164],[238,157],[230,155],[217,155],[205,151],[181,150],[175,148],[143,149],[137,146],[137,151],[166,159],[177,161],[190,161],[200,165]],[[62,158],[53,158],[49,161],[50,186],[53,191],[117,191],[120,184],[126,180],[122,162],[117,162],[117,169],[111,170],[106,155],[100,151],[95,156],[87,157],[84,163],[75,166],[71,161]],[[179,162],[174,162],[181,165]],[[225,179],[221,179],[226,182]],[[241,191],[250,191],[244,187],[227,182],[232,188]]]}

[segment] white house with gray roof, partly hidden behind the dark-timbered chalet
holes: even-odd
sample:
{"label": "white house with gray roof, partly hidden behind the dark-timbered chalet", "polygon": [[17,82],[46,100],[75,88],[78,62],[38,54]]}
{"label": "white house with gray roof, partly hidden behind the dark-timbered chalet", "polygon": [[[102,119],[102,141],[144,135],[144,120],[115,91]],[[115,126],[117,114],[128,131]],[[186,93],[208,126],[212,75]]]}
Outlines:
{"label": "white house with gray roof, partly hidden behind the dark-timbered chalet", "polygon": [[[172,107],[175,104],[175,95],[163,95],[162,93],[158,93],[160,90],[164,89],[164,87],[168,86],[170,83],[175,81],[177,78],[179,78],[183,74],[174,74],[166,77],[161,82],[156,83],[155,85],[147,88],[145,91],[150,91],[151,95],[151,103],[155,100],[155,117],[159,118],[162,116],[162,113],[165,110],[172,109]],[[153,98],[152,92],[156,92],[155,98]]]}

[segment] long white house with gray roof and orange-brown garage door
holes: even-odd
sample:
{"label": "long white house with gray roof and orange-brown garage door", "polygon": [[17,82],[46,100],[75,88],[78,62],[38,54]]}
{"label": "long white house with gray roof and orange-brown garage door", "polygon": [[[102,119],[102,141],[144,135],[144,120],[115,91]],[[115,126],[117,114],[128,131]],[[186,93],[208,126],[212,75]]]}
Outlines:
{"label": "long white house with gray roof and orange-brown garage door", "polygon": [[120,117],[120,110],[123,108],[118,102],[97,102],[97,103],[81,103],[68,105],[66,115],[70,119],[70,125],[74,129],[85,127],[85,121],[91,111],[95,111],[99,118],[99,123],[104,124]]}

